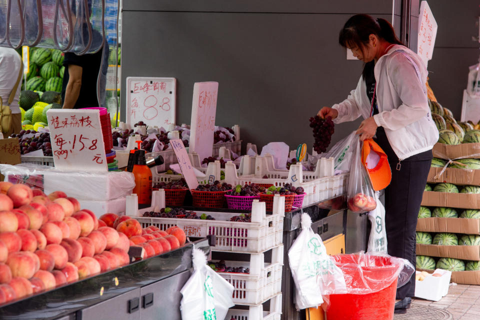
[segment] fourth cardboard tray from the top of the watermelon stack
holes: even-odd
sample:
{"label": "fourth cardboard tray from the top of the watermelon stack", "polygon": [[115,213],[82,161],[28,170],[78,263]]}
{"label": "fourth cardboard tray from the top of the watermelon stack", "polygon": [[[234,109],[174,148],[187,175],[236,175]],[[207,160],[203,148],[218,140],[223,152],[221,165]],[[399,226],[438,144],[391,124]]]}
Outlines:
{"label": "fourth cardboard tray from the top of the watermelon stack", "polygon": [[419,218],[416,222],[416,230],[423,232],[480,234],[480,219]]}

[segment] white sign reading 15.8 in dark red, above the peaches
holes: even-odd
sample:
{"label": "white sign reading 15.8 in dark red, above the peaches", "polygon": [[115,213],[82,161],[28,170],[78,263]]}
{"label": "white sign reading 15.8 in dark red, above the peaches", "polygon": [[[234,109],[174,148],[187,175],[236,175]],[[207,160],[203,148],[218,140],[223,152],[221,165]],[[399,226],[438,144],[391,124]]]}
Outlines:
{"label": "white sign reading 15.8 in dark red, above the peaches", "polygon": [[55,167],[108,171],[98,110],[49,109],[46,117]]}

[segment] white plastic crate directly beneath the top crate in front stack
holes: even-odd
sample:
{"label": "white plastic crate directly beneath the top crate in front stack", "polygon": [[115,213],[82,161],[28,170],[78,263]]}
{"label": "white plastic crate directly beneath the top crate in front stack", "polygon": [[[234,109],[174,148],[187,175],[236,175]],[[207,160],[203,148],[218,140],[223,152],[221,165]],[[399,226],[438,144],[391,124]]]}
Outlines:
{"label": "white plastic crate directly beneath the top crate in front stack", "polygon": [[225,264],[250,269],[250,273],[218,272],[233,285],[233,303],[257,305],[281,293],[283,245],[272,249],[271,262],[264,262],[263,253],[258,253],[250,255],[250,262],[225,261]]}

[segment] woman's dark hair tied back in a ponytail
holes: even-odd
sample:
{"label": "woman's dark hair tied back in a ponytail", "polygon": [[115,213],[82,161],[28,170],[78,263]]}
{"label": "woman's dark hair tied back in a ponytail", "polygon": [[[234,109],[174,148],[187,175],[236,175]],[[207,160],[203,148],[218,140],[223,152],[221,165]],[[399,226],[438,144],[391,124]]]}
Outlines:
{"label": "woman's dark hair tied back in a ponytail", "polygon": [[[404,45],[395,35],[393,26],[385,19],[374,19],[368,14],[355,14],[351,16],[343,25],[338,35],[338,43],[343,47],[358,47],[363,49],[369,41],[370,34],[375,34],[379,38],[393,44]],[[365,63],[362,71],[362,77],[371,71],[374,62]]]}

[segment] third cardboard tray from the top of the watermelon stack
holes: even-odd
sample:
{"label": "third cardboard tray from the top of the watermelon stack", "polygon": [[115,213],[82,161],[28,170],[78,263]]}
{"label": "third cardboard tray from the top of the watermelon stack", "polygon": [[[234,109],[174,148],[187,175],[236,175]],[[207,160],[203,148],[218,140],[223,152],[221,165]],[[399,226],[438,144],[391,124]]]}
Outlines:
{"label": "third cardboard tray from the top of the watermelon stack", "polygon": [[480,194],[423,191],[421,205],[480,209]]}

